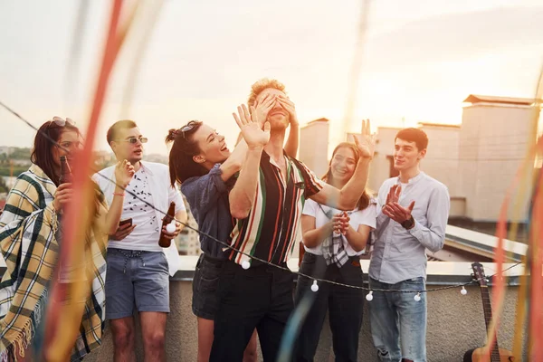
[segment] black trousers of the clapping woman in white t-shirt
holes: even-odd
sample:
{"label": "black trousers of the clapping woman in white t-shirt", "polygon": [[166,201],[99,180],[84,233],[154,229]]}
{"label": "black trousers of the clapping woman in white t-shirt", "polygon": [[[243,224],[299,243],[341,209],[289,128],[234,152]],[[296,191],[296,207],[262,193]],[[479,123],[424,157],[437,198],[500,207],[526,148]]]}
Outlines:
{"label": "black trousers of the clapping woman in white t-shirt", "polygon": [[[336,264],[327,266],[320,255],[305,252],[300,272],[329,281],[363,286],[363,273],[358,257],[349,258],[348,262],[338,268]],[[313,293],[310,291],[312,283],[313,281],[308,278],[298,277],[296,304],[306,293]],[[357,361],[358,334],[362,327],[364,300],[362,290],[319,282],[319,291],[316,292],[313,305],[300,330],[294,360],[297,362],[313,360],[328,310],[336,361]]]}

